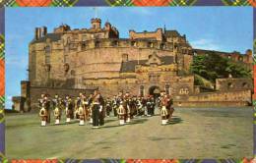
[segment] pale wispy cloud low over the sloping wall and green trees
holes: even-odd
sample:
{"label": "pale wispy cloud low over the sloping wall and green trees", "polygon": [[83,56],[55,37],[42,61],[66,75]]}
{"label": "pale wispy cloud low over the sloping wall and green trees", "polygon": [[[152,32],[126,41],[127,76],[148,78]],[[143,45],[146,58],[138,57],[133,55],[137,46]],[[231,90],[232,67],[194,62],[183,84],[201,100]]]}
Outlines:
{"label": "pale wispy cloud low over the sloping wall and green trees", "polygon": [[198,48],[198,49],[206,49],[206,50],[221,50],[222,49],[222,46],[212,39],[202,38],[202,39],[198,39],[195,41],[191,41],[190,44],[192,45],[192,47]]}

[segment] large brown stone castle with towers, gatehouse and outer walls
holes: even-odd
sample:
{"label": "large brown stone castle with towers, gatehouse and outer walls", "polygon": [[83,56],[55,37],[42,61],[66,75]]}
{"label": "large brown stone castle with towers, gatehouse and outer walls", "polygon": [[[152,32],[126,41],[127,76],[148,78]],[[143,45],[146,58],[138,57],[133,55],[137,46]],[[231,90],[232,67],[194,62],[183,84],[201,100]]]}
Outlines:
{"label": "large brown stone castle with towers, gatehouse and outer walls", "polygon": [[[120,38],[110,23],[92,19],[91,27],[36,27],[30,43],[29,81],[22,81],[15,107],[34,107],[39,94],[61,96],[99,89],[103,96],[119,91],[134,95],[171,94],[176,106],[245,106],[252,96],[251,78],[226,77],[195,82],[190,67],[198,55],[216,54],[252,70],[252,51],[218,52],[194,49],[177,30],[129,30]],[[18,106],[19,105],[19,106]]]}

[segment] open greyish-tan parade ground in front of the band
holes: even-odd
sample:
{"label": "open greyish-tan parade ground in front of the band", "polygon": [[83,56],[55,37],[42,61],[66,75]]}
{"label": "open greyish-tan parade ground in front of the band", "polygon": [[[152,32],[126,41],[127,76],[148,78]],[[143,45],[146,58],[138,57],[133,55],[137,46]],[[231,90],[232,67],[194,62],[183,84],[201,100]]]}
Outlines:
{"label": "open greyish-tan parade ground in front of the band", "polygon": [[252,108],[176,109],[171,124],[136,118],[101,129],[39,127],[35,114],[6,116],[8,158],[239,158],[252,157]]}

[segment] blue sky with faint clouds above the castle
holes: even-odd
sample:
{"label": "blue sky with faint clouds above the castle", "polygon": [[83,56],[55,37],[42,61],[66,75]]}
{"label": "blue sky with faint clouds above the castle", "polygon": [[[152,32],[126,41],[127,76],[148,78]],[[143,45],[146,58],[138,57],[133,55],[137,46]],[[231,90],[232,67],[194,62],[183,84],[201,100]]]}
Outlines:
{"label": "blue sky with faint clouds above the castle", "polygon": [[194,48],[244,53],[252,49],[253,26],[250,7],[76,7],[6,8],[6,108],[12,96],[21,94],[20,82],[28,80],[29,43],[35,27],[67,24],[71,28],[89,28],[98,17],[117,27],[120,37],[129,30],[155,31],[158,27],[186,34]]}

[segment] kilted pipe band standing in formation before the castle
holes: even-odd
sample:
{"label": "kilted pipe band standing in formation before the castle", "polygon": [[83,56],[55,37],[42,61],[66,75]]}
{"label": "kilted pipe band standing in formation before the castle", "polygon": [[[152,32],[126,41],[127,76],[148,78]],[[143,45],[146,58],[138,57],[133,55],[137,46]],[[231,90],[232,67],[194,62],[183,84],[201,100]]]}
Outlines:
{"label": "kilted pipe band standing in formation before the castle", "polygon": [[50,98],[48,94],[41,94],[38,102],[42,127],[50,124],[52,112],[55,125],[60,124],[64,112],[66,124],[79,120],[80,126],[88,122],[93,128],[99,128],[104,126],[104,118],[110,115],[118,118],[119,125],[125,125],[133,121],[134,117],[154,116],[157,108],[160,111],[161,125],[166,125],[174,111],[173,100],[164,91],[160,92],[158,98],[152,95],[141,97],[131,95],[129,92],[119,92],[112,98],[103,99],[98,90],[89,96],[79,93],[77,98],[66,95],[64,99],[58,94],[55,94],[53,98]]}

